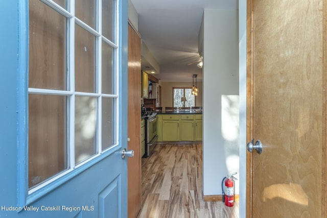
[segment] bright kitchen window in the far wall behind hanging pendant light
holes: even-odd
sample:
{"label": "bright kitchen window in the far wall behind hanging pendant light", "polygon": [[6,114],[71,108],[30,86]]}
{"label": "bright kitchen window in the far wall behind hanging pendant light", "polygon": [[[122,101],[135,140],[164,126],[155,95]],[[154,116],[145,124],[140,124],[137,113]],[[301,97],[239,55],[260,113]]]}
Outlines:
{"label": "bright kitchen window in the far wall behind hanging pendant light", "polygon": [[[181,101],[186,98],[185,104]],[[192,87],[173,88],[173,106],[174,107],[195,107],[195,96],[192,94]]]}

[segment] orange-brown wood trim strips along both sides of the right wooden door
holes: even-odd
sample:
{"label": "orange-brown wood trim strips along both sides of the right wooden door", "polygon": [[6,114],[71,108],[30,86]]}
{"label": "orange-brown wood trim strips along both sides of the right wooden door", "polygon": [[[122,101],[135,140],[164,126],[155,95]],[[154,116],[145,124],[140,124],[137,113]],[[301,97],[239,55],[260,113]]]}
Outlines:
{"label": "orange-brown wood trim strips along both sides of the right wooden door", "polygon": [[[254,0],[247,0],[246,6],[246,141],[251,141],[253,138],[253,40],[254,40],[254,33],[253,33],[253,5]],[[327,1],[323,1],[323,17],[327,17]],[[323,19],[322,22],[323,31],[322,31],[322,38],[323,38],[323,71],[325,74],[323,75],[323,90],[326,90],[327,84],[327,21]],[[321,179],[322,179],[322,199],[321,199],[321,217],[327,217],[327,150],[326,150],[326,131],[327,131],[327,95],[326,93],[323,96],[323,111],[322,111],[322,118],[323,118],[323,128],[322,128],[322,154],[321,154]],[[244,148],[244,147],[242,147]],[[246,217],[253,217],[253,153],[246,152]]]}

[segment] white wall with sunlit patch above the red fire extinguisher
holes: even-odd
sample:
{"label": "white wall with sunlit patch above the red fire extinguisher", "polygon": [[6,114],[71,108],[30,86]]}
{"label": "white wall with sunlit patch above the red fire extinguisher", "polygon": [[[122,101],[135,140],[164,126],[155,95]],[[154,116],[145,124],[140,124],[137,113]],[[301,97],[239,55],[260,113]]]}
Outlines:
{"label": "white wall with sunlit patch above the red fire extinguisher", "polygon": [[203,194],[221,195],[227,174],[239,178],[238,10],[204,9],[202,25]]}

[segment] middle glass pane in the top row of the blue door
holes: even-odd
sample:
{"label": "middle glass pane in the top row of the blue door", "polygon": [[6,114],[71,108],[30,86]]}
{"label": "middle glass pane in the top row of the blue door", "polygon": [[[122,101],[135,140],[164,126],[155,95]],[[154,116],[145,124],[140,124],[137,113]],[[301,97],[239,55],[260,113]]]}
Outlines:
{"label": "middle glass pane in the top row of the blue door", "polygon": [[96,29],[96,0],[75,0],[75,15],[82,22]]}

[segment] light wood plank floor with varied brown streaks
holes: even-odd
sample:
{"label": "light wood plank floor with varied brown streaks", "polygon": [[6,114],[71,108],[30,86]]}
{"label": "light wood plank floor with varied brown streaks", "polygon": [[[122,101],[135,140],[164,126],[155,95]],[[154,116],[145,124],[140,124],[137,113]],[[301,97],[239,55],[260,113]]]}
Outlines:
{"label": "light wood plank floor with varied brown streaks", "polygon": [[239,217],[239,202],[226,207],[202,197],[202,144],[158,144],[149,158],[142,159],[138,218]]}

